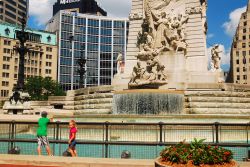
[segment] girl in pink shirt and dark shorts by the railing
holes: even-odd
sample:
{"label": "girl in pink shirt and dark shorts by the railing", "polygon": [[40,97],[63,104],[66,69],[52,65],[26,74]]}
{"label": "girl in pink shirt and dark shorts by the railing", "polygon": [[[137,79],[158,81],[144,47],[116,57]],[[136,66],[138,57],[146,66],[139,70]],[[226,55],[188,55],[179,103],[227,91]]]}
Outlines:
{"label": "girl in pink shirt and dark shorts by the railing", "polygon": [[69,152],[71,154],[72,157],[76,157],[77,153],[76,153],[76,132],[77,132],[77,128],[76,128],[76,122],[74,120],[71,120],[69,122]]}

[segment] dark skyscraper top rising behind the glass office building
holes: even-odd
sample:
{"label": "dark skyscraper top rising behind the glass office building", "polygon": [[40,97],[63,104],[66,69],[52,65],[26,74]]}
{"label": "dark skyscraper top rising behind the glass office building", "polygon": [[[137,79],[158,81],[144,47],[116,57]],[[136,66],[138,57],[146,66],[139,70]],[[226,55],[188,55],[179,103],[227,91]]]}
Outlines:
{"label": "dark skyscraper top rising behind the glass office building", "polygon": [[57,0],[53,5],[53,16],[60,10],[107,16],[107,12],[100,8],[95,0]]}

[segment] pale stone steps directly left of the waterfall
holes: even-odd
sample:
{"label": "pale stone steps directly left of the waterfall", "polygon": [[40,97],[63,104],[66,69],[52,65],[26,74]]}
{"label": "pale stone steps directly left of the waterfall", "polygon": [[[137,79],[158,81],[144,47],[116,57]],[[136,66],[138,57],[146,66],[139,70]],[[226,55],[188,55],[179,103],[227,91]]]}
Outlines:
{"label": "pale stone steps directly left of the waterfall", "polygon": [[113,87],[99,86],[75,91],[75,114],[110,114]]}

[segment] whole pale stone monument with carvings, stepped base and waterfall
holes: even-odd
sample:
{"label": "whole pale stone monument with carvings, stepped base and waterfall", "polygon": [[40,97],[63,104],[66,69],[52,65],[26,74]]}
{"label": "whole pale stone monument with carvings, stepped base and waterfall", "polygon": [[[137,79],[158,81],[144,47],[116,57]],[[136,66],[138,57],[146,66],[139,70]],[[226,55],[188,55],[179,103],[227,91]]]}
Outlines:
{"label": "whole pale stone monument with carvings, stepped base and waterfall", "polygon": [[206,3],[133,0],[124,70],[71,92],[74,115],[249,115],[250,86],[224,83],[217,45],[207,68]]}

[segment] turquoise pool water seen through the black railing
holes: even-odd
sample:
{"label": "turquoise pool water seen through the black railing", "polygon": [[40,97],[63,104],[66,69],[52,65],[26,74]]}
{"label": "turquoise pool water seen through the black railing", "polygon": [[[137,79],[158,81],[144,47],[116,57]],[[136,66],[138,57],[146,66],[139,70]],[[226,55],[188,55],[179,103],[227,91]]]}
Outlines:
{"label": "turquoise pool water seen through the black railing", "polygon": [[[3,137],[3,136],[1,136]],[[18,134],[16,138],[35,139],[34,134]],[[49,138],[51,139],[51,138]],[[65,139],[66,138],[62,138]],[[241,142],[241,141],[237,141]],[[16,142],[15,146],[21,149],[23,155],[37,155],[36,148],[37,143],[24,143]],[[51,143],[50,147],[53,151],[53,155],[62,156],[62,153],[67,149],[67,144],[54,144]],[[10,148],[10,143],[0,142],[0,154],[6,154]],[[108,158],[121,158],[121,153],[127,150],[131,153],[132,159],[155,159],[159,156],[160,151],[164,146],[141,146],[141,145],[109,145],[108,146]],[[248,148],[244,147],[226,147],[234,153],[234,159],[242,161],[243,157],[247,157]],[[105,157],[105,146],[101,144],[77,144],[77,152],[80,157]],[[46,155],[45,149],[42,151],[43,155]]]}

